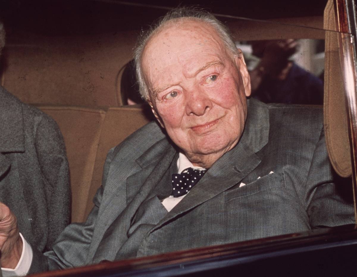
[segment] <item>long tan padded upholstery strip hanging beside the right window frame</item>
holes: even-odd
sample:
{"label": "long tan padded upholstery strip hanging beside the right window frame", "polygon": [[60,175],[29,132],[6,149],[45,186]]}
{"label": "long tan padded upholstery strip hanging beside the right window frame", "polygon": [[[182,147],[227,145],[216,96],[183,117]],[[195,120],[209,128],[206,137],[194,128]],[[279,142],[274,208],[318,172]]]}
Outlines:
{"label": "long tan padded upholstery strip hanging beside the right window frame", "polygon": [[[333,0],[329,0],[324,15],[324,27],[336,30]],[[325,39],[324,126],[331,164],[342,177],[352,174],[348,139],[345,87],[340,64],[338,33],[326,31]]]}

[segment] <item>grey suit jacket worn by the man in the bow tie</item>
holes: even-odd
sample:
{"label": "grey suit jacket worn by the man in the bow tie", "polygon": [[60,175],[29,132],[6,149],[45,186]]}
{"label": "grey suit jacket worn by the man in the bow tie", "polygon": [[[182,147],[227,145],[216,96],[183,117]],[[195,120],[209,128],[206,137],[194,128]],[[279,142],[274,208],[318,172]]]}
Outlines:
{"label": "grey suit jacket worn by the man in the bow tie", "polygon": [[167,212],[177,149],[149,123],[110,150],[87,221],[34,253],[30,272],[353,223],[322,127],[321,109],[249,100],[236,147]]}

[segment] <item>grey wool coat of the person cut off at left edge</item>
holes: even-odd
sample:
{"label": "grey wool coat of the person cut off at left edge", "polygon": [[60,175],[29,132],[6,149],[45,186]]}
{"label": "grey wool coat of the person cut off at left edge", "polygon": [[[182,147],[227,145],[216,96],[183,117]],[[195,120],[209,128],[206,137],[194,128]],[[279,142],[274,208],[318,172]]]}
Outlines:
{"label": "grey wool coat of the person cut off at left edge", "polygon": [[49,250],[70,221],[65,145],[55,121],[0,86],[0,201],[22,235]]}

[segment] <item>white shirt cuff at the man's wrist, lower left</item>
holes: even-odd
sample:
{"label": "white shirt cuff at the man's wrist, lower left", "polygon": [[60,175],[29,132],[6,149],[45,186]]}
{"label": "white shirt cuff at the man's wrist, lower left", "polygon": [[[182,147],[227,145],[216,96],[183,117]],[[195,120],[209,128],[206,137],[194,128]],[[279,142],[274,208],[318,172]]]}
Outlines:
{"label": "white shirt cuff at the man's wrist, lower left", "polygon": [[1,267],[2,277],[25,276],[30,270],[33,256],[32,248],[21,233],[20,237],[22,240],[22,253],[20,260],[14,269]]}

